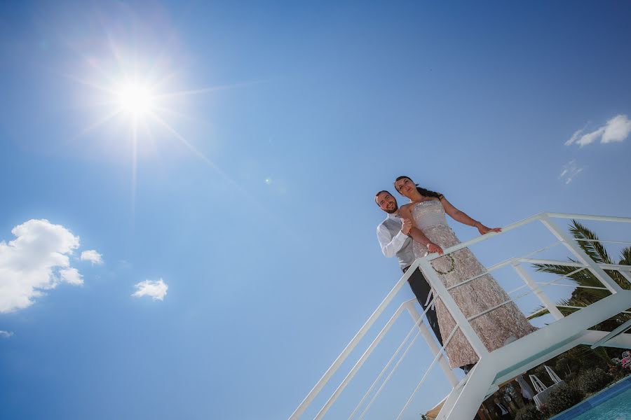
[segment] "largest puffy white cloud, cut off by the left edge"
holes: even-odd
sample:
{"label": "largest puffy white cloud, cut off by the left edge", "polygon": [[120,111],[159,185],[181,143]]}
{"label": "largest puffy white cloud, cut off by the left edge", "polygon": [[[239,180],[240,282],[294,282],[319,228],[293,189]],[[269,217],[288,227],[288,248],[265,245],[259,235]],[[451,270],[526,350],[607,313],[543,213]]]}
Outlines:
{"label": "largest puffy white cloud, cut off by the left edge", "polygon": [[0,313],[29,307],[42,290],[59,283],[83,283],[69,258],[79,248],[79,237],[67,228],[31,219],[11,233],[13,241],[0,241]]}

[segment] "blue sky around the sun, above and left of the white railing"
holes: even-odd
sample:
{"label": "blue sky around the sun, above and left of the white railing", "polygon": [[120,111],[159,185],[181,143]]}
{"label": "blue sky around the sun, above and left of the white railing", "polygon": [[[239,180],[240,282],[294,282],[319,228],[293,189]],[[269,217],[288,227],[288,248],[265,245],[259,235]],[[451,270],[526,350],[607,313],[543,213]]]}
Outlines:
{"label": "blue sky around the sun, above and left of the white railing", "polygon": [[[629,12],[3,3],[2,417],[288,417],[400,276],[372,201],[400,174],[488,225],[629,216]],[[163,95],[135,141],[95,125],[133,74]]]}

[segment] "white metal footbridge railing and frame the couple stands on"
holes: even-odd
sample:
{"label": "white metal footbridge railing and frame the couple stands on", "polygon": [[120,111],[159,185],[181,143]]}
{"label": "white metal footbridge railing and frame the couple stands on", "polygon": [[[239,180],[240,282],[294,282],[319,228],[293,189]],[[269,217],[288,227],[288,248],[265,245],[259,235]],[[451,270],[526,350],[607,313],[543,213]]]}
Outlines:
{"label": "white metal footbridge railing and frame the couple stands on", "polygon": [[[362,337],[365,336],[369,328],[375,323],[375,321],[384,313],[388,304],[390,304],[394,297],[399,293],[401,288],[407,283],[409,276],[412,275],[415,269],[420,268],[423,274],[426,277],[428,283],[433,289],[434,299],[440,298],[445,304],[449,313],[452,314],[454,321],[456,321],[456,327],[445,340],[445,344],[442,348],[438,348],[435,343],[431,333],[423,322],[423,315],[419,314],[414,307],[414,300],[409,300],[404,302],[398,307],[393,316],[388,320],[384,328],[381,329],[379,334],[375,337],[372,343],[368,346],[362,356],[360,356],[359,360],[353,367],[351,371],[348,372],[346,377],[341,381],[341,384],[335,389],[334,393],[330,396],[330,398],[325,402],[325,405],[320,409],[318,414],[315,415],[315,419],[322,419],[323,416],[327,413],[333,403],[339,398],[344,388],[348,386],[350,381],[353,379],[355,374],[358,372],[360,367],[362,367],[365,360],[370,356],[372,351],[376,348],[376,346],[381,342],[381,339],[384,338],[388,330],[392,327],[395,321],[403,314],[405,311],[412,316],[414,320],[414,326],[412,330],[410,330],[405,337],[404,341],[400,344],[399,348],[395,351],[392,358],[386,363],[386,366],[383,370],[381,370],[379,376],[375,379],[372,385],[368,388],[368,391],[363,395],[362,399],[356,405],[355,409],[351,413],[351,416],[348,419],[352,419],[355,414],[360,410],[361,405],[367,399],[369,393],[374,390],[374,387],[379,382],[381,377],[385,374],[388,367],[395,360],[395,356],[398,356],[401,349],[407,343],[407,340],[412,335],[412,332],[415,329],[419,331],[416,333],[412,342],[408,344],[405,351],[400,356],[397,363],[393,367],[393,370],[388,374],[386,379],[382,382],[381,386],[374,393],[371,400],[367,403],[367,406],[363,409],[360,414],[360,419],[362,419],[367,413],[369,407],[372,405],[372,402],[377,398],[381,390],[384,388],[388,380],[391,378],[393,372],[397,369],[398,365],[402,358],[405,357],[410,347],[418,337],[418,335],[422,335],[426,340],[428,346],[430,346],[430,350],[434,355],[434,359],[430,364],[430,367],[426,370],[425,374],[423,374],[423,378],[419,382],[418,386],[412,392],[412,395],[409,396],[405,406],[401,410],[398,418],[402,416],[405,412],[405,409],[409,406],[409,403],[412,402],[412,398],[416,391],[423,385],[424,381],[428,377],[428,374],[432,367],[435,365],[440,365],[442,372],[444,372],[450,384],[452,384],[452,393],[445,400],[444,405],[441,409],[439,419],[463,419],[473,417],[475,411],[477,411],[477,407],[480,406],[482,400],[487,395],[487,393],[492,393],[494,389],[496,389],[496,384],[500,381],[510,379],[511,377],[517,376],[525,370],[536,366],[539,363],[542,363],[548,358],[554,357],[556,354],[565,351],[565,349],[571,348],[571,346],[576,346],[577,344],[590,344],[592,346],[602,345],[604,342],[609,340],[609,344],[612,345],[623,345],[631,347],[631,338],[626,337],[630,335],[623,335],[625,337],[620,336],[620,332],[623,332],[626,328],[618,328],[615,332],[606,333],[600,331],[592,331],[588,330],[592,325],[595,325],[599,322],[610,318],[611,316],[615,316],[616,314],[625,311],[628,309],[627,307],[631,302],[631,290],[624,290],[621,288],[616,281],[613,281],[609,275],[604,272],[607,270],[615,270],[619,272],[622,276],[624,276],[627,281],[631,283],[631,266],[628,265],[615,265],[615,264],[597,264],[594,262],[582,248],[576,242],[576,239],[570,237],[564,230],[557,227],[557,225],[552,221],[553,218],[564,218],[564,219],[578,219],[578,220],[589,220],[589,221],[604,221],[604,222],[612,222],[612,223],[631,223],[631,218],[624,217],[613,217],[613,216],[591,216],[591,215],[581,215],[581,214],[561,214],[561,213],[541,213],[531,216],[529,218],[525,218],[522,221],[518,221],[517,223],[513,223],[511,225],[506,226],[502,229],[502,232],[494,232],[489,233],[487,235],[482,235],[480,237],[476,237],[475,239],[471,239],[470,241],[463,242],[461,244],[457,244],[456,246],[451,246],[445,249],[445,255],[449,253],[453,253],[460,249],[472,246],[481,241],[487,241],[492,237],[496,237],[498,235],[503,235],[510,230],[515,230],[524,225],[528,225],[529,223],[533,223],[535,221],[541,222],[545,228],[557,237],[557,241],[548,246],[544,246],[543,248],[539,248],[536,251],[528,253],[527,255],[523,255],[522,257],[509,258],[508,260],[504,260],[499,262],[496,265],[493,265],[487,268],[486,272],[483,274],[479,274],[477,276],[472,277],[471,279],[466,279],[459,284],[446,288],[445,285],[440,280],[437,272],[433,269],[431,265],[431,261],[439,258],[438,254],[430,254],[426,255],[424,258],[419,258],[412,264],[411,267],[407,270],[407,272],[401,277],[401,279],[395,284],[390,293],[386,296],[386,298],[379,304],[379,307],[376,308],[374,313],[368,318],[366,323],[360,328],[360,330],[355,334],[355,337],[351,339],[351,342],[348,343],[344,351],[334,360],[333,364],[329,367],[327,372],[320,378],[318,383],[315,384],[313,389],[306,395],[306,398],[301,402],[299,407],[294,411],[294,413],[290,416],[290,420],[297,420],[304,413],[306,408],[311,405],[314,398],[330,381],[333,374],[339,370],[339,367],[344,363],[346,358],[350,355],[350,353],[355,349],[358,345]],[[602,243],[616,243],[616,244],[629,244],[629,242],[625,241],[600,241],[600,240],[591,240],[590,241],[599,241]],[[558,260],[543,260],[532,258],[534,255],[546,251],[554,246],[559,244],[563,244],[572,255],[574,255],[574,259],[577,262],[571,261],[558,261]],[[550,264],[550,265],[564,265],[567,267],[576,267],[576,270],[565,274],[564,276],[558,276],[556,279],[548,282],[540,282],[534,281],[528,272],[522,267],[523,263],[530,264]],[[527,293],[522,293],[516,297],[513,297],[506,302],[502,302],[499,305],[496,305],[493,308],[487,309],[481,314],[475,314],[474,316],[470,316],[467,318],[462,313],[461,309],[458,307],[456,302],[454,302],[452,296],[449,294],[449,290],[454,288],[458,288],[463,284],[466,284],[474,279],[479,278],[485,274],[489,274],[496,269],[501,267],[513,267],[517,276],[524,281],[524,285],[511,290],[510,293],[514,293],[517,290],[528,287],[530,290]],[[605,297],[604,299],[596,302],[595,304],[590,304],[588,307],[576,307],[576,311],[569,315],[564,316],[561,311],[559,311],[559,307],[557,304],[552,302],[548,295],[543,293],[543,288],[548,286],[569,286],[557,283],[562,279],[566,279],[571,274],[579,272],[583,269],[588,269],[596,279],[598,279],[602,283],[602,288],[600,289],[608,290],[611,295]],[[581,286],[576,285],[574,287],[585,287],[585,288],[595,288],[594,286]],[[500,349],[496,349],[495,351],[489,352],[487,348],[484,346],[480,337],[477,336],[475,330],[470,325],[470,321],[477,316],[481,316],[488,311],[497,309],[501,307],[503,304],[508,304],[510,302],[514,302],[516,299],[520,297],[524,297],[526,295],[534,294],[541,300],[543,304],[542,311],[547,309],[552,317],[555,318],[555,323],[551,323],[550,325],[545,326],[545,328],[541,328],[540,330],[527,335],[526,337],[522,337],[521,339],[517,339],[515,342],[507,344]],[[602,301],[607,302],[602,302]],[[427,305],[429,307],[430,305]],[[427,309],[426,309],[427,311]],[[558,324],[558,325],[557,325]],[[560,325],[563,324],[563,325]],[[469,344],[473,347],[475,352],[477,353],[480,361],[475,365],[473,370],[467,375],[465,379],[462,381],[458,381],[454,376],[452,370],[449,369],[449,365],[447,363],[446,358],[444,357],[444,349],[447,346],[449,339],[454,335],[454,332],[460,328],[463,332],[463,335],[468,339]],[[544,331],[545,330],[545,331]],[[509,352],[510,351],[510,352]],[[538,357],[534,357],[539,354]],[[512,375],[512,376],[511,376]]]}

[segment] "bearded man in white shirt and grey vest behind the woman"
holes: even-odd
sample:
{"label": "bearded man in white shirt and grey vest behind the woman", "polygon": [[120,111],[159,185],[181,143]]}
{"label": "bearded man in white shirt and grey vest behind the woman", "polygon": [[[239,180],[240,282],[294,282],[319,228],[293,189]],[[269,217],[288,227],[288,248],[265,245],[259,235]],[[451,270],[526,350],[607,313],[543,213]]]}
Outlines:
{"label": "bearded man in white shirt and grey vest behind the woman", "polygon": [[[408,236],[410,230],[416,228],[412,228],[412,221],[401,220],[398,215],[399,207],[397,200],[395,200],[395,197],[393,197],[391,193],[388,193],[388,191],[384,190],[376,193],[374,195],[374,201],[381,210],[388,214],[386,220],[379,223],[379,226],[377,226],[377,239],[379,239],[379,245],[381,245],[381,252],[388,258],[396,255],[399,260],[399,267],[405,273],[416,259],[412,252],[412,238]],[[419,233],[423,235],[420,230]],[[425,235],[423,235],[423,237],[425,237]],[[419,300],[421,307],[423,307],[423,310],[427,309],[427,304],[429,303],[428,295],[431,289],[423,273],[421,273],[421,270],[416,269],[414,273],[412,273],[412,276],[409,276],[408,282],[410,288],[412,288],[412,292],[416,295],[416,299]],[[433,305],[431,309],[428,309],[426,315],[438,342],[440,342],[442,346],[442,337],[440,336],[440,329],[438,328],[436,309]]]}

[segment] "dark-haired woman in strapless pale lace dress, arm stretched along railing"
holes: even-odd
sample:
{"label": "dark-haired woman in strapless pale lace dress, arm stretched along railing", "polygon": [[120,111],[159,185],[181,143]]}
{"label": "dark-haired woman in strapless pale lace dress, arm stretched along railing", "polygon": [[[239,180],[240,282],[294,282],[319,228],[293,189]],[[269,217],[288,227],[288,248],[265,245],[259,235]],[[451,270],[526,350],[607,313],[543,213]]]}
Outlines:
{"label": "dark-haired woman in strapless pale lace dress, arm stretched along railing", "polygon": [[[473,220],[463,211],[456,209],[442,194],[417,187],[407,176],[399,176],[395,181],[395,188],[410,200],[409,204],[401,207],[401,218],[412,221],[429,240],[428,243],[425,238],[422,238],[422,235],[414,237],[415,235],[412,234],[414,239],[413,251],[416,258],[425,256],[428,251],[442,255],[442,248],[460,244],[456,234],[447,224],[445,213],[460,223],[477,228],[480,235],[501,231],[500,228],[487,228],[482,223]],[[484,265],[475,258],[475,255],[468,248],[443,255],[433,260],[432,266],[447,288],[486,272]],[[490,274],[469,281],[450,290],[449,293],[467,318],[510,299],[506,291]],[[440,299],[436,300],[436,314],[440,334],[442,337],[449,337],[456,323]],[[503,304],[486,314],[477,316],[470,321],[470,324],[489,351],[498,349],[504,344],[536,330],[513,302]],[[461,330],[454,333],[445,350],[447,357],[449,357],[449,366],[452,368],[463,367],[467,371],[471,365],[479,360]]]}

